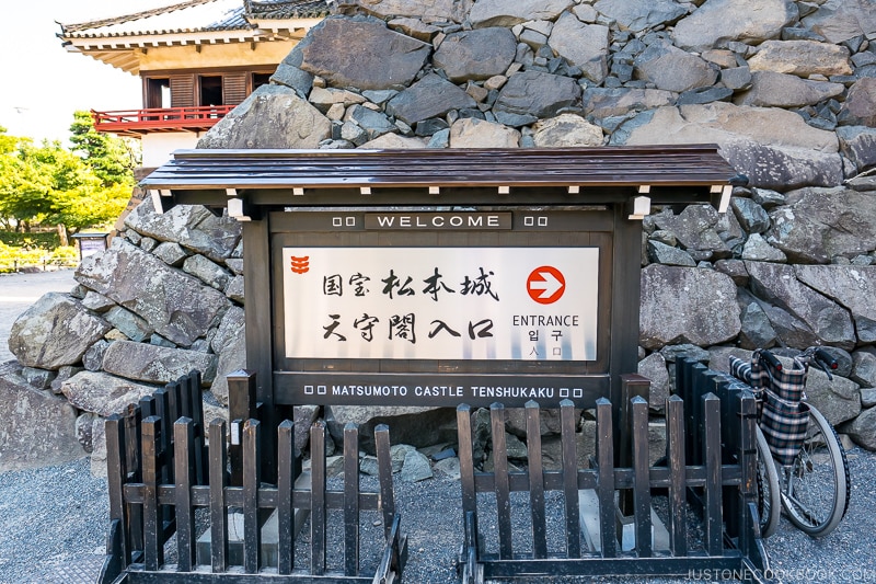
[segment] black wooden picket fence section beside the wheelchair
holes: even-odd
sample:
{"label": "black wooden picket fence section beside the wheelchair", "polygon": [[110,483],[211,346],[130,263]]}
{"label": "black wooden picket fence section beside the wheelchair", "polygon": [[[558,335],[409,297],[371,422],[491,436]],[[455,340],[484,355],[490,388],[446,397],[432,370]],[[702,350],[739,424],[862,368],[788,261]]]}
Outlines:
{"label": "black wooden picket fence section beside the wheelchair", "polygon": [[[750,392],[726,391],[714,382],[716,378],[711,378],[711,385],[693,374],[689,379],[691,390],[685,399],[672,396],[666,402],[665,466],[649,465],[648,403],[642,397],[631,400],[630,426],[622,428],[613,427],[612,404],[604,398],[598,400],[597,446],[589,468],[579,468],[575,404],[565,400],[560,409],[560,470],[544,470],[540,409],[530,402],[526,406],[526,470],[509,468],[506,411],[496,403],[491,408],[494,469],[477,471],[472,412],[468,405],[460,405],[457,421],[464,514],[462,581],[469,584],[508,577],[688,575],[702,569],[728,570],[757,580],[768,565],[754,504],[754,399]],[[723,399],[718,398],[721,393]],[[616,431],[632,437],[630,468],[614,466],[612,437]],[[512,522],[512,493],[520,491],[528,492],[528,497],[523,496],[526,503],[517,509],[529,516],[526,537],[521,537],[519,524],[515,528]],[[545,497],[552,491],[562,499],[564,529],[560,542],[556,537],[549,537]],[[624,516],[619,503],[631,492],[632,516]],[[658,546],[656,534],[662,525],[655,525],[653,503],[656,493],[662,492],[668,493],[662,502],[668,516],[667,538],[665,546]],[[489,502],[488,516],[481,513],[485,500]],[[519,497],[516,501],[520,503]],[[595,506],[598,514],[589,526],[583,520],[588,505]],[[701,513],[702,529],[689,527],[689,511]],[[494,520],[497,528],[489,533],[495,537],[488,541],[482,524]],[[662,523],[659,518],[657,522]],[[632,527],[624,529],[630,524]],[[625,542],[630,536],[632,545]],[[556,545],[551,547],[552,542]]]}

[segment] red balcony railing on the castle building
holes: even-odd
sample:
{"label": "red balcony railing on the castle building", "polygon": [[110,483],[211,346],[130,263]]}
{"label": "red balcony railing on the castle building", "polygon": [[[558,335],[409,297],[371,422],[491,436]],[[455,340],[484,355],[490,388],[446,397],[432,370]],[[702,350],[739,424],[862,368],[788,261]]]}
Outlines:
{"label": "red balcony railing on the castle building", "polygon": [[127,136],[152,131],[204,130],[226,116],[233,105],[196,107],[149,107],[117,112],[91,111],[94,129]]}

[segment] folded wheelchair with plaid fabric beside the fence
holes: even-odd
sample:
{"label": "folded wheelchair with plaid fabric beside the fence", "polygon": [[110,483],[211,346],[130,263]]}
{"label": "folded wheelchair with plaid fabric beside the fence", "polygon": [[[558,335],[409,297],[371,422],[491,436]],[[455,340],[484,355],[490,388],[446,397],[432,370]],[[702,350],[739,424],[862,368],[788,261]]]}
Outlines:
{"label": "folded wheelchair with plaid fabric beside the fence", "polygon": [[758,511],[761,536],[770,537],[785,511],[810,537],[823,537],[849,509],[851,480],[837,431],[806,402],[806,378],[815,365],[832,379],[837,362],[820,347],[793,358],[791,368],[770,351],[751,362],[730,356],[730,373],[747,383],[758,401]]}

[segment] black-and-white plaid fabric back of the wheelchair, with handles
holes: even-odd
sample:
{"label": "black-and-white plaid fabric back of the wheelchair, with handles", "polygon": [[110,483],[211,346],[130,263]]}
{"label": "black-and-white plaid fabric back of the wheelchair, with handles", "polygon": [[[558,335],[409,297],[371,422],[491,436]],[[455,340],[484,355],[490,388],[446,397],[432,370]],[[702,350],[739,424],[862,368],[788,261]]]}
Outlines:
{"label": "black-and-white plaid fabric back of the wheelchair, with handles", "polygon": [[776,368],[756,351],[750,364],[730,356],[730,371],[759,396],[760,428],[773,457],[780,465],[793,463],[809,423],[809,406],[803,401],[809,365],[795,358],[792,368]]}

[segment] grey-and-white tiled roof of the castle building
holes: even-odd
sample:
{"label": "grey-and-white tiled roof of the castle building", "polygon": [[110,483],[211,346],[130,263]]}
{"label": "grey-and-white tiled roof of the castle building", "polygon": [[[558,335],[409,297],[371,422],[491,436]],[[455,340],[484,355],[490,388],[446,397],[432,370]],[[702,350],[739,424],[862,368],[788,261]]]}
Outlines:
{"label": "grey-and-white tiled roof of the castle building", "polygon": [[163,8],[79,24],[61,24],[61,38],[97,38],[251,31],[247,18],[288,20],[327,14],[324,0],[186,0]]}

